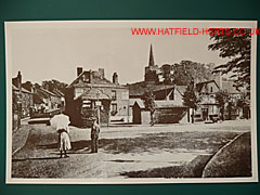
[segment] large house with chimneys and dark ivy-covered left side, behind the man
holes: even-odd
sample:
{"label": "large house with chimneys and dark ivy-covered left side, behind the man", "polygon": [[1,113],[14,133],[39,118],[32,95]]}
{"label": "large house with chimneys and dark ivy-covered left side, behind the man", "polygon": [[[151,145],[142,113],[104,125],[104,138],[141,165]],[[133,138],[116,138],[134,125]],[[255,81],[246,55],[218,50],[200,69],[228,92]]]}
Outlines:
{"label": "large house with chimneys and dark ivy-covered left side, behind the man", "polygon": [[78,67],[77,78],[67,87],[65,102],[65,110],[75,126],[89,127],[92,117],[98,117],[102,126],[128,121],[129,89],[118,83],[116,73],[113,81],[107,80],[103,68]]}

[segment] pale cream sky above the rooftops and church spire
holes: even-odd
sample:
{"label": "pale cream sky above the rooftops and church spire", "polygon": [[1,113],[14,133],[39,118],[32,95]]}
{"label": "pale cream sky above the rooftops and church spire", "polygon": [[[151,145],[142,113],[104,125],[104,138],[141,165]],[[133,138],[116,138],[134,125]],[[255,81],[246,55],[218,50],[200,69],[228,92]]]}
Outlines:
{"label": "pale cream sky above the rooftops and church spire", "polygon": [[226,62],[218,51],[208,51],[208,35],[131,34],[133,27],[209,27],[212,23],[172,22],[29,22],[11,23],[6,28],[8,66],[12,77],[21,70],[23,82],[41,83],[57,79],[70,83],[76,68],[105,69],[112,80],[118,73],[120,83],[144,79],[153,44],[155,64],[174,64],[182,60],[199,63]]}

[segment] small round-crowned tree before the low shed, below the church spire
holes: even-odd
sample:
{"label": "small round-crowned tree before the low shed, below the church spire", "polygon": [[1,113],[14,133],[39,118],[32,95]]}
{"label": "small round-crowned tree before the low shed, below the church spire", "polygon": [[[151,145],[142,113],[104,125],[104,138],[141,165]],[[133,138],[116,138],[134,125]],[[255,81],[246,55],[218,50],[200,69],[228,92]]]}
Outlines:
{"label": "small round-crowned tree before the low shed, below the church spire", "polygon": [[144,101],[144,106],[147,110],[150,110],[150,115],[151,115],[151,126],[154,126],[155,123],[155,119],[154,119],[154,113],[156,109],[156,105],[155,105],[155,96],[153,94],[152,91],[146,91],[143,96],[142,100]]}

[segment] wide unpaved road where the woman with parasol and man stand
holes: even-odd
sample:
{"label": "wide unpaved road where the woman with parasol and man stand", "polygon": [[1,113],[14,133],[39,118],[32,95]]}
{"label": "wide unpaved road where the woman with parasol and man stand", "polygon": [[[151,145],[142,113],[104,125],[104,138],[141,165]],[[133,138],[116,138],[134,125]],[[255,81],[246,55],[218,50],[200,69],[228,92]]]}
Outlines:
{"label": "wide unpaved road where the woman with parasol and man stand", "polygon": [[29,127],[12,157],[13,178],[194,178],[222,146],[250,131],[250,120],[102,128],[98,154],[90,153],[90,129],[70,127],[68,158],[60,158],[52,127]]}

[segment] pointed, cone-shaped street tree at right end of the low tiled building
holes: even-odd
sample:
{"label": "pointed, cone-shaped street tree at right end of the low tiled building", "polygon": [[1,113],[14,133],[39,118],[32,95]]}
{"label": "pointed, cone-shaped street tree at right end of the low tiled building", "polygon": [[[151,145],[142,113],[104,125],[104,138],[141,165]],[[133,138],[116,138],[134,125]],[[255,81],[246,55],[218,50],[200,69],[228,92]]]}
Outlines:
{"label": "pointed, cone-shaped street tree at right end of the low tiled building", "polygon": [[183,95],[183,105],[192,108],[192,123],[194,123],[194,114],[200,102],[199,95],[196,93],[194,80],[192,79]]}

